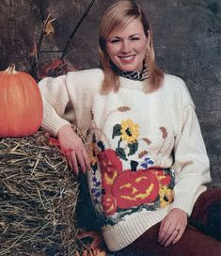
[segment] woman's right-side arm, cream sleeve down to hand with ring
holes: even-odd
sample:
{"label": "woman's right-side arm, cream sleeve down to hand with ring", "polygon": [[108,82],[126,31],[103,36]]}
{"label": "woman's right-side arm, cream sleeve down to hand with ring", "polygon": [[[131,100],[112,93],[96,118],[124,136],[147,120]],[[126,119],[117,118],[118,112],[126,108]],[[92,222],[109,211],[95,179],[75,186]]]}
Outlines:
{"label": "woman's right-side arm, cream sleeve down to hand with ring", "polygon": [[175,139],[174,158],[174,202],[159,231],[159,242],[165,246],[182,238],[187,217],[202,192],[201,185],[211,182],[209,159],[193,104],[182,109],[182,129]]}

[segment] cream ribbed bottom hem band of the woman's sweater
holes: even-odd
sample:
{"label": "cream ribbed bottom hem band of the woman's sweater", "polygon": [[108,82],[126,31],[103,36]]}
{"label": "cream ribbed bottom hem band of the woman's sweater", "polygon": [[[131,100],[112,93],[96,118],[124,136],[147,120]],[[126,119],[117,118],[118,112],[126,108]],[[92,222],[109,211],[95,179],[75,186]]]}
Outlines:
{"label": "cream ribbed bottom hem band of the woman's sweater", "polygon": [[142,233],[146,232],[156,223],[162,221],[169,212],[170,206],[157,211],[139,212],[126,217],[114,226],[104,226],[103,239],[107,248],[116,251],[125,248],[134,242]]}

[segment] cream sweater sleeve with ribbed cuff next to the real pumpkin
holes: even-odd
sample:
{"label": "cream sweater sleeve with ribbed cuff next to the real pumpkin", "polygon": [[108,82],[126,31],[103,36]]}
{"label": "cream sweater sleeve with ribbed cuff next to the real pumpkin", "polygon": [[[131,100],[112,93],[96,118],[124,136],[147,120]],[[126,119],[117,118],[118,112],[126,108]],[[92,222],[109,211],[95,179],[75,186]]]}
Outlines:
{"label": "cream sweater sleeve with ribbed cuff next to the real pumpkin", "polygon": [[43,103],[43,120],[41,127],[56,136],[61,126],[71,123],[62,118],[70,98],[66,87],[66,75],[56,78],[46,77],[39,82]]}

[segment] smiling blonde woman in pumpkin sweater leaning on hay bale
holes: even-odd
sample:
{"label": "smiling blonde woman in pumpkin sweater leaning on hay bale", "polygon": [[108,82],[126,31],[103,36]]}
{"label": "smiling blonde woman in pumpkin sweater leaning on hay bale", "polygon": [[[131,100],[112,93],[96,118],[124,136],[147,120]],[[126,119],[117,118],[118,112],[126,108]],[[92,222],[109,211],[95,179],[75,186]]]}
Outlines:
{"label": "smiling blonde woman in pumpkin sweater leaning on hay bale", "polygon": [[[194,206],[190,220],[199,219],[197,210],[208,195],[203,184],[211,177],[184,82],[157,68],[150,23],[134,1],[108,8],[99,33],[102,69],[39,83],[42,128],[67,149],[74,172],[79,166],[87,173],[110,250],[198,255],[199,247],[188,248],[194,236],[195,245],[200,239],[217,255],[216,240],[187,227]],[[71,123],[87,130],[87,145]]]}

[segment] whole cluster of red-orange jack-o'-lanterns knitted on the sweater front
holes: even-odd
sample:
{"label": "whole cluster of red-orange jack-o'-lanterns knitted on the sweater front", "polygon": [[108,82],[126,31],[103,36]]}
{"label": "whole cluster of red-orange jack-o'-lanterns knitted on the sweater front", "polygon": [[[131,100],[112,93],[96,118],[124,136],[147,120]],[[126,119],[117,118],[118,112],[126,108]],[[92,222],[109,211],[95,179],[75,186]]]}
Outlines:
{"label": "whole cluster of red-orange jack-o'-lanterns knitted on the sweater front", "polygon": [[102,169],[102,205],[106,216],[118,210],[152,204],[159,200],[165,207],[173,200],[169,169],[148,168],[132,171],[122,169],[122,163],[114,150],[107,149],[99,154]]}

